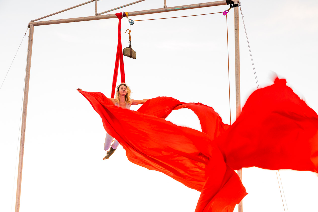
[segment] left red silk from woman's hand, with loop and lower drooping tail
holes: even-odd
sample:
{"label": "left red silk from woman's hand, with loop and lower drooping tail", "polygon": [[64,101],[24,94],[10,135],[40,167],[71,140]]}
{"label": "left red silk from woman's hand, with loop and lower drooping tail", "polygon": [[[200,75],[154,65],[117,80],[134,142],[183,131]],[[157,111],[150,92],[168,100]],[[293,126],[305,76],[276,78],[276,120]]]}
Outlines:
{"label": "left red silk from woman's hand, with loop and lower drooping tail", "polygon": [[[221,152],[212,142],[228,128],[213,108],[157,97],[138,111],[131,111],[114,106],[102,93],[79,92],[99,113],[104,128],[123,146],[131,162],[202,191],[197,211],[203,211],[209,202],[214,208],[220,208],[219,211],[223,208],[231,211],[246,195],[239,176],[226,166]],[[164,119],[172,110],[183,107],[198,115],[203,131],[209,134]],[[212,127],[208,128],[207,124]]]}

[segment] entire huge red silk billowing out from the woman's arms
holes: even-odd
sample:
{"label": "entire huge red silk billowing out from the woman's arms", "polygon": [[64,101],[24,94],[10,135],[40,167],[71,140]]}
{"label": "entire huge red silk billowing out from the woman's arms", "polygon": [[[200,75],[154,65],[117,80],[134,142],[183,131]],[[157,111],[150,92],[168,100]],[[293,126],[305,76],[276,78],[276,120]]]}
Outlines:
{"label": "entire huge red silk billowing out from the woman's arms", "polygon": [[[131,111],[114,106],[102,93],[79,92],[131,162],[201,191],[196,212],[233,211],[247,194],[235,169],[316,172],[318,167],[318,116],[285,80],[252,93],[232,126],[201,103],[157,97]],[[197,114],[202,132],[164,119],[181,108]]]}

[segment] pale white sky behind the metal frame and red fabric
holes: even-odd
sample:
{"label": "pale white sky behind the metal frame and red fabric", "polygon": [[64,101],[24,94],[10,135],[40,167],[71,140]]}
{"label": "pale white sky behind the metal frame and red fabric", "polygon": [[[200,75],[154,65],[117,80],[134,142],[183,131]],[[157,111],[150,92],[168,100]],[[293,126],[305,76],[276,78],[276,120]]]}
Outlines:
{"label": "pale white sky behind the metal frame and red fabric", "polygon": [[[83,2],[1,0],[0,83],[31,20]],[[98,12],[130,2],[98,1]],[[167,0],[168,7],[197,3],[203,2]],[[309,0],[242,0],[241,7],[260,87],[270,85],[275,72],[286,78],[288,85],[317,112],[315,5],[316,1]],[[163,0],[147,0],[124,11],[162,6]],[[90,3],[44,20],[93,16],[94,7],[95,3]],[[222,12],[228,7],[131,18]],[[234,10],[230,10],[232,122],[235,120],[233,14]],[[101,119],[76,89],[110,96],[117,24],[118,19],[106,19],[34,28],[20,211],[194,211],[199,192],[162,173],[132,164],[121,146],[110,159],[102,160],[106,152]],[[129,28],[128,20],[123,18],[121,25],[122,46],[126,47],[128,34],[124,32]],[[171,96],[183,102],[201,102],[213,107],[225,123],[230,123],[226,20],[222,14],[141,21],[135,22],[131,29],[137,60],[124,57],[124,63],[133,99]],[[13,211],[15,204],[27,36],[0,90],[0,211],[10,211],[11,202]],[[256,82],[241,17],[240,62],[244,105],[256,89]],[[186,109],[174,111],[168,119],[200,128],[197,117]],[[280,175],[290,212],[318,211],[317,174],[280,170]],[[275,171],[244,168],[243,184],[249,193],[243,199],[244,212],[284,211]]]}

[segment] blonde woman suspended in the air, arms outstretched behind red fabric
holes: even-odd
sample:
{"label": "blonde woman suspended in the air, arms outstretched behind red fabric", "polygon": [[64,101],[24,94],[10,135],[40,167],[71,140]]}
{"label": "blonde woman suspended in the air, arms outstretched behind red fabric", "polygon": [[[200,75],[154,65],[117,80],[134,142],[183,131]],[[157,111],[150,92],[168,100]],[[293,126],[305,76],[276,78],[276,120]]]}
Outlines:
{"label": "blonde woman suspended in the air, arms outstretched behind red fabric", "polygon": [[[78,90],[82,90],[78,88]],[[138,105],[145,103],[148,99],[143,100],[134,100],[130,98],[131,90],[130,87],[125,84],[121,83],[116,87],[116,95],[115,98],[108,98],[113,104],[119,108],[128,109],[130,110],[131,105]],[[114,141],[114,142],[113,142]],[[113,142],[113,143],[112,143]],[[104,143],[104,150],[106,152],[106,156],[103,158],[103,160],[108,159],[117,149],[119,143],[118,141],[106,133],[105,143]]]}

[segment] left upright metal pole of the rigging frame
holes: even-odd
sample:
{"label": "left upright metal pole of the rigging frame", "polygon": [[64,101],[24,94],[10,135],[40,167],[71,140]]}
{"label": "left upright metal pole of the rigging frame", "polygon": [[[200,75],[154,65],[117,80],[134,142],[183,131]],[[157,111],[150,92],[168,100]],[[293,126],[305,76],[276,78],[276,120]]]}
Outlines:
{"label": "left upright metal pole of the rigging frame", "polygon": [[29,31],[28,54],[27,54],[27,59],[26,59],[26,73],[25,73],[25,84],[24,84],[24,97],[23,97],[22,125],[21,125],[21,139],[20,139],[20,153],[19,153],[17,196],[16,196],[15,212],[19,212],[19,210],[20,210],[21,181],[22,181],[22,167],[23,167],[23,154],[24,154],[24,138],[25,138],[25,125],[26,125],[26,111],[28,108],[31,55],[32,55],[32,43],[33,43],[33,29],[34,29],[34,26],[31,24],[30,31]]}

